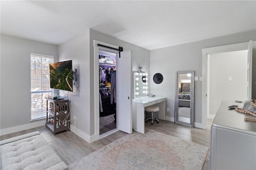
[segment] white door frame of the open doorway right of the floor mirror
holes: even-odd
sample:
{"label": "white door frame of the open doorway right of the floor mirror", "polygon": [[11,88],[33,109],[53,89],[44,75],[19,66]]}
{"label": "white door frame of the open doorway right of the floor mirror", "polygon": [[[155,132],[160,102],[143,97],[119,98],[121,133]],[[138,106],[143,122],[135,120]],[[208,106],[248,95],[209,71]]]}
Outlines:
{"label": "white door frame of the open doorway right of the floor mirror", "polygon": [[[253,47],[255,47],[255,41],[253,41]],[[214,53],[226,53],[231,51],[241,51],[248,49],[248,42],[237,43],[231,45],[223,45],[218,47],[210,47],[202,49],[202,124],[199,125],[200,128],[207,128],[207,101],[210,97],[207,96],[207,63],[208,63],[208,54]]]}

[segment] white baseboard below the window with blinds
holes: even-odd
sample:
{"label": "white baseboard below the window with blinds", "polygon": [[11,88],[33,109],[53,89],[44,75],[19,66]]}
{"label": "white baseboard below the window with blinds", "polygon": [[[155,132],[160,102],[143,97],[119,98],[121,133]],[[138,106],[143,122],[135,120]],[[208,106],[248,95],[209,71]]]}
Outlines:
{"label": "white baseboard below the window with blinds", "polygon": [[32,129],[32,128],[35,128],[35,127],[44,126],[45,123],[46,123],[46,120],[42,119],[40,121],[33,121],[33,122],[30,122],[30,123],[25,124],[25,125],[19,125],[19,126],[9,127],[9,128],[6,128],[6,129],[1,129],[0,133],[1,133],[1,135],[6,135],[6,134],[9,134],[9,133],[19,132],[19,131],[24,131],[24,130],[27,130],[27,129]]}

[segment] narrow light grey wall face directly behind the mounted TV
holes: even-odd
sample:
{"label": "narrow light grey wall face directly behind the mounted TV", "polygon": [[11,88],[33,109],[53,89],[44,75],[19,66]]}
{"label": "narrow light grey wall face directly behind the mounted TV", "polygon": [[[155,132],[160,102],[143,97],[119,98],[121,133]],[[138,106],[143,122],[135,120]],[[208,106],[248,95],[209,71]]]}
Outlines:
{"label": "narrow light grey wall face directly behind the mounted TV", "polygon": [[[90,138],[90,45],[89,45],[89,29],[69,39],[65,43],[59,45],[59,60],[72,60],[73,69],[77,69],[78,91],[74,87],[74,92],[70,92],[70,114],[71,118],[76,116],[77,129],[72,124],[71,129],[78,136],[88,141]],[[65,94],[67,92],[64,92]],[[60,92],[62,95],[62,92]]]}

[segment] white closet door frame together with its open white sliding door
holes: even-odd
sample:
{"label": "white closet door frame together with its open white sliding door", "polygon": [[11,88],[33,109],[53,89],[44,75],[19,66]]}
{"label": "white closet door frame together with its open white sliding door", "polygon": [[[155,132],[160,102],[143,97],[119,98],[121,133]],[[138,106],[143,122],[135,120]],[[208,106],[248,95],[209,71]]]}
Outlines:
{"label": "white closet door frame together with its open white sliding door", "polygon": [[[101,54],[100,54],[101,53]],[[99,55],[112,53],[112,57],[116,56],[116,100],[113,98],[113,103],[116,102],[116,113],[111,114],[110,117],[116,119],[116,129],[110,130],[103,134],[100,134],[100,81],[99,81],[99,66],[102,64],[102,59],[99,59]],[[109,56],[110,57],[110,56]],[[116,131],[124,131],[126,133],[132,133],[132,51],[122,51],[122,47],[110,45],[108,43],[94,40],[94,131],[92,141],[102,139]],[[115,61],[106,62],[111,65],[108,68],[114,69]],[[104,65],[103,65],[104,66]],[[103,85],[103,84],[102,84]],[[105,84],[106,85],[106,84]],[[103,85],[104,86],[104,85]],[[113,84],[111,84],[111,90],[113,92]],[[108,87],[103,87],[108,88]],[[105,89],[107,90],[107,89]],[[110,96],[110,101],[112,98]],[[114,105],[112,105],[114,106]],[[103,108],[102,108],[103,109]],[[116,116],[114,116],[116,115]],[[112,119],[111,118],[111,119]]]}

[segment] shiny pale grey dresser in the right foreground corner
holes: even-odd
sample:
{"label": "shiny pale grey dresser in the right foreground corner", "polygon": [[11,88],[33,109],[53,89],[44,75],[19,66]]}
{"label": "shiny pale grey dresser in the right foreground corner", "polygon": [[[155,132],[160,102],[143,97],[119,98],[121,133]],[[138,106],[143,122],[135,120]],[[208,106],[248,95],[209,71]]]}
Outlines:
{"label": "shiny pale grey dresser in the right foreground corner", "polygon": [[244,121],[253,117],[228,106],[244,102],[222,101],[212,122],[210,170],[256,170],[256,122]]}

